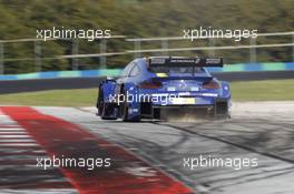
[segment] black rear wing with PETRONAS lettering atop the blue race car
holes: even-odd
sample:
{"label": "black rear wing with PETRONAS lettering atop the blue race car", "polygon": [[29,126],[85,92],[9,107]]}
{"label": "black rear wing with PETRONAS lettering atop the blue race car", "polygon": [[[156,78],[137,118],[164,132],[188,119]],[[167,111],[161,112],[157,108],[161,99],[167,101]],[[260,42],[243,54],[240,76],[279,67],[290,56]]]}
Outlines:
{"label": "black rear wing with PETRONAS lettering atop the blue race car", "polygon": [[148,65],[151,67],[218,67],[223,68],[223,58],[149,58]]}

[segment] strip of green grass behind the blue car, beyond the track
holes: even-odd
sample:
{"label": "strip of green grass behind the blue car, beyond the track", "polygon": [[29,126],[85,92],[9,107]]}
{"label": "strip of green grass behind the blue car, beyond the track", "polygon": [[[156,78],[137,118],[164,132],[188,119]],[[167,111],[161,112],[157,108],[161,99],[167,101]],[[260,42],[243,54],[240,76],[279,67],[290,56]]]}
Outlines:
{"label": "strip of green grass behind the blue car, beyond the track", "polygon": [[[233,101],[294,101],[293,80],[232,82]],[[97,89],[1,94],[1,105],[92,106]]]}

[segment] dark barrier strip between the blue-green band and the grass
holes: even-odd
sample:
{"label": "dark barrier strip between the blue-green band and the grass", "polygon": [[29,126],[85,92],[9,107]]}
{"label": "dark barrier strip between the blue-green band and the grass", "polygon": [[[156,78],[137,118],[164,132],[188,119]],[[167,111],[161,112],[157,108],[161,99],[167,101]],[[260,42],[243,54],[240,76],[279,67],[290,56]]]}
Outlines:
{"label": "dark barrier strip between the blue-green band and the grass", "polygon": [[[261,81],[293,79],[294,71],[236,71],[215,72],[216,78],[224,81]],[[0,94],[18,92],[36,92],[45,90],[67,90],[67,89],[98,89],[99,83],[105,80],[99,78],[57,78],[57,79],[33,79],[33,80],[0,80]]]}

